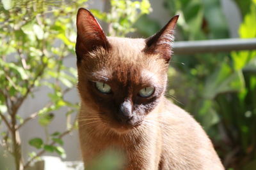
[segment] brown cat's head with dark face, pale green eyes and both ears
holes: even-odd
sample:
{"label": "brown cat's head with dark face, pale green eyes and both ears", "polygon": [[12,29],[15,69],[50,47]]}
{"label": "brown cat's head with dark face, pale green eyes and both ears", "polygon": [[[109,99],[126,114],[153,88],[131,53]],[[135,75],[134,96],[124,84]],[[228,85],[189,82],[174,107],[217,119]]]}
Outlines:
{"label": "brown cat's head with dark face, pale green eyes and both ears", "polygon": [[79,9],[77,88],[88,120],[95,116],[117,131],[131,129],[157,107],[166,90],[177,19],[147,39],[113,38],[90,11]]}

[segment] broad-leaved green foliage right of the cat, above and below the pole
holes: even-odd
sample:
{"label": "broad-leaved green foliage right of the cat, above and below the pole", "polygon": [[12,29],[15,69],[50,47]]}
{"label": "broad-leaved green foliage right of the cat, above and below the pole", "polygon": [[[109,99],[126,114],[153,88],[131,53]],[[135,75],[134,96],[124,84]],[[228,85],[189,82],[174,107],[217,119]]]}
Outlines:
{"label": "broad-leaved green foliage right of the cat, above and below the pole", "polygon": [[[228,38],[220,1],[164,2],[172,15],[180,13],[177,29],[182,40]],[[239,36],[256,38],[255,1],[236,2],[244,15]],[[256,52],[205,53],[173,60],[168,96],[176,96],[174,101],[183,103],[204,126],[227,168],[255,169]]]}

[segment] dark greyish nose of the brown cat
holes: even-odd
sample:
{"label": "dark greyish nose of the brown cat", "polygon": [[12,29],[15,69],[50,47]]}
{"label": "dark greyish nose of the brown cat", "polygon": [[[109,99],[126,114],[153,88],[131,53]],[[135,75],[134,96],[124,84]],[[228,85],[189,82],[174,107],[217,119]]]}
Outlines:
{"label": "dark greyish nose of the brown cat", "polygon": [[129,122],[132,119],[132,103],[129,100],[124,101],[124,103],[120,104],[120,108],[118,111],[118,118],[122,122]]}

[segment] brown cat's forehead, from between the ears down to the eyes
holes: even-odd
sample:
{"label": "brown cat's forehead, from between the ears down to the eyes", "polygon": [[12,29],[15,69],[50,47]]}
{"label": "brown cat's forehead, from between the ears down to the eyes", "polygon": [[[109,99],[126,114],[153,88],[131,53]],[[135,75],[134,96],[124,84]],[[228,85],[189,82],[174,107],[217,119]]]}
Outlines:
{"label": "brown cat's forehead, from between the ears down to the eyes", "polygon": [[[145,39],[112,38],[108,41],[111,48],[98,48],[90,53],[90,72],[99,80],[115,79],[134,83],[158,81],[165,73],[166,62],[158,55],[143,52]],[[87,62],[88,64],[88,62]]]}

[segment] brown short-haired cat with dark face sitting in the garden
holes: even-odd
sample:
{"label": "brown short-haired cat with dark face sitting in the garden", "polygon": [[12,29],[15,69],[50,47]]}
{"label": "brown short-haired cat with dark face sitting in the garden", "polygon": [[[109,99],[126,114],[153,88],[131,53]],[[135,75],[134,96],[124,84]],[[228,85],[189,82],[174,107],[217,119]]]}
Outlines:
{"label": "brown short-haired cat with dark face sitting in the garden", "polygon": [[200,125],[164,97],[173,17],[147,39],[106,37],[90,11],[77,13],[79,138],[85,167],[107,148],[124,169],[224,169]]}

